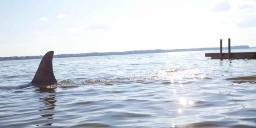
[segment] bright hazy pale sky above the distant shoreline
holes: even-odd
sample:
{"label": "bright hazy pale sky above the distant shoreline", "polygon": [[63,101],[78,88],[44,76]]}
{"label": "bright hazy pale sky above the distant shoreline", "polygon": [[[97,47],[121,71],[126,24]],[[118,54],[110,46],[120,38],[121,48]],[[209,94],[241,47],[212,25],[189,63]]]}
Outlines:
{"label": "bright hazy pale sky above the distant shoreline", "polygon": [[256,0],[0,0],[0,57],[256,46]]}

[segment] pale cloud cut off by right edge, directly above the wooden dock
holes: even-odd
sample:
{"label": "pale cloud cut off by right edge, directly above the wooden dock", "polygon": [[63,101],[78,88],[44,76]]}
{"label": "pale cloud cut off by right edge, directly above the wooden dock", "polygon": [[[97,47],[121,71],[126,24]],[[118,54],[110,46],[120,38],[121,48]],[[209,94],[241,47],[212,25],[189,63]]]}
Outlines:
{"label": "pale cloud cut off by right edge, directly above the wooden dock", "polygon": [[241,22],[237,23],[240,28],[256,27],[256,14],[242,17]]}

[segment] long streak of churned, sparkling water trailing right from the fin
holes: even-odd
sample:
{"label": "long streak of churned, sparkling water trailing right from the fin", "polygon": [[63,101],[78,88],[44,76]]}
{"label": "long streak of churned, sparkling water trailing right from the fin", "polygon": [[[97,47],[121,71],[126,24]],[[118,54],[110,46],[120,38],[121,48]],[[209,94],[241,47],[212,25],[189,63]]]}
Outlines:
{"label": "long streak of churned, sparkling water trailing right from the fin", "polygon": [[[153,72],[151,75],[146,75],[146,76],[130,76],[130,77],[116,77],[114,79],[87,79],[83,82],[73,82],[70,79],[60,81],[60,84],[64,85],[90,85],[90,84],[105,84],[105,85],[113,85],[113,84],[118,84],[118,83],[143,83],[143,84],[148,84],[156,81],[162,81],[164,80],[161,84],[174,84],[177,83],[178,80],[182,79],[193,79],[193,78],[199,78],[199,79],[212,79],[210,77],[206,77],[205,74],[202,74],[199,70],[197,69],[175,69],[175,70],[159,70],[156,72]],[[184,83],[184,84],[189,84]],[[65,86],[62,86],[65,88]],[[69,87],[69,86],[68,86]]]}

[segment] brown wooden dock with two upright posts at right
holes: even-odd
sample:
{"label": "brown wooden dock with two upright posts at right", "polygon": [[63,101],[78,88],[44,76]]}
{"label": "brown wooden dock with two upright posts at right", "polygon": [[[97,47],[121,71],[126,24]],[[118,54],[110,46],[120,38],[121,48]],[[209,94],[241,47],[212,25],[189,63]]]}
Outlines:
{"label": "brown wooden dock with two upright posts at right", "polygon": [[205,53],[211,59],[256,59],[256,52],[231,53],[230,38],[228,39],[228,53],[222,53],[222,39],[220,40],[220,53]]}

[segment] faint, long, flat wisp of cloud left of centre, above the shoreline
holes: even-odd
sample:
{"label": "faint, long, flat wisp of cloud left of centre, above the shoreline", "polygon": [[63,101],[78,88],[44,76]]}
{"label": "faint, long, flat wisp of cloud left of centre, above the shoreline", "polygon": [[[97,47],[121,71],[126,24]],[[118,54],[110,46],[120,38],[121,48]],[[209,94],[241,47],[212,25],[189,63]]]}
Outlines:
{"label": "faint, long, flat wisp of cloud left of centre, above the shoreline", "polygon": [[82,32],[82,31],[86,31],[86,30],[104,30],[104,29],[110,29],[110,25],[108,24],[90,24],[90,25],[85,25],[85,26],[81,26],[81,27],[77,27],[77,28],[68,28],[66,29],[66,31],[70,31],[70,32]]}

